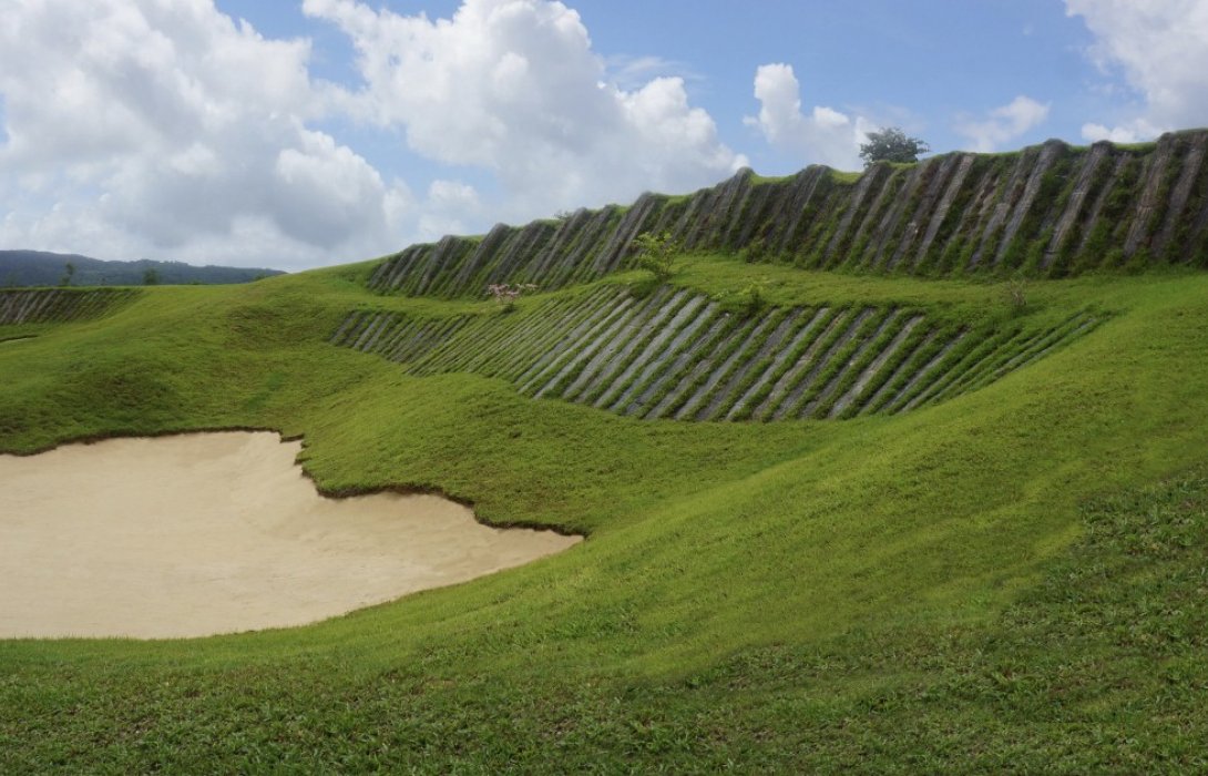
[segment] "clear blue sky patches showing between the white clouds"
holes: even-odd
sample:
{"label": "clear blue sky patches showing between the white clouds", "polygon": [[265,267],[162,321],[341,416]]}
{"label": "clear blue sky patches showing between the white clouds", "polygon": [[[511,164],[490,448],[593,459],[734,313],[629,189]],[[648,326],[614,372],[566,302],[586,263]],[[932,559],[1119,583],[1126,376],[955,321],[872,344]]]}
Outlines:
{"label": "clear blue sky patches showing between the white clouds", "polygon": [[[348,37],[325,22],[307,18],[296,4],[219,0],[216,5],[265,34],[309,37],[315,45],[312,73],[349,87],[359,83]],[[449,18],[459,2],[370,5],[400,15]],[[765,174],[795,172],[813,161],[760,143],[759,133],[743,122],[759,111],[753,79],[766,63],[792,65],[807,104],[902,126],[927,139],[936,152],[970,147],[957,126],[1020,94],[1050,104],[1049,121],[1015,138],[1010,147],[1050,137],[1082,141],[1087,116],[1110,120],[1120,106],[1119,97],[1100,92],[1113,79],[1086,56],[1093,42],[1086,25],[1052,0],[585,0],[567,5],[580,15],[596,53],[614,75],[638,81],[655,75],[684,77],[692,104],[714,116],[721,139]],[[632,75],[627,66],[634,68]],[[378,140],[385,151],[381,163],[390,164],[397,147],[389,138]]]}

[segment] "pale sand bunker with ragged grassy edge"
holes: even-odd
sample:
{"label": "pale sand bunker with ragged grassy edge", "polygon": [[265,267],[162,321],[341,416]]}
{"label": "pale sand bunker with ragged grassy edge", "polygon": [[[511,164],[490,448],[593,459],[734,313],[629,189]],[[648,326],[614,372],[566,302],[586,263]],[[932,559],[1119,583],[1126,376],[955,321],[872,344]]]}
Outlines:
{"label": "pale sand bunker with ragged grassy edge", "polygon": [[0,637],[303,625],[579,542],[436,496],[320,497],[269,433],[0,456]]}

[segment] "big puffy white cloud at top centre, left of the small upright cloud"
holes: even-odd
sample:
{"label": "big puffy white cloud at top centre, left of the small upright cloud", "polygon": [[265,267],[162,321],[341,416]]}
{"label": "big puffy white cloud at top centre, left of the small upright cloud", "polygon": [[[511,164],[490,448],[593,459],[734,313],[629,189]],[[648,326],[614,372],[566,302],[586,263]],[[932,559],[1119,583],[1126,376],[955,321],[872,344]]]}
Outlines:
{"label": "big puffy white cloud at top centre, left of the small upright cloud", "polygon": [[401,132],[425,157],[490,170],[511,218],[685,191],[745,163],[690,105],[683,79],[611,81],[561,2],[465,0],[436,21],[356,0],[306,0],[303,10],[356,48],[364,82],[343,108]]}

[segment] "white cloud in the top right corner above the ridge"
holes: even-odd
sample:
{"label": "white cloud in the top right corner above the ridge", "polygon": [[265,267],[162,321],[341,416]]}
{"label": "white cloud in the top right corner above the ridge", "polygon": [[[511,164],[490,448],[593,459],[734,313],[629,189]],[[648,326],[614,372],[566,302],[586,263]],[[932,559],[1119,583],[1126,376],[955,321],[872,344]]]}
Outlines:
{"label": "white cloud in the top right corner above the ridge", "polygon": [[1167,129],[1208,124],[1208,4],[1200,0],[1065,0],[1094,35],[1088,56],[1119,73],[1140,105],[1088,122],[1088,140],[1136,141]]}

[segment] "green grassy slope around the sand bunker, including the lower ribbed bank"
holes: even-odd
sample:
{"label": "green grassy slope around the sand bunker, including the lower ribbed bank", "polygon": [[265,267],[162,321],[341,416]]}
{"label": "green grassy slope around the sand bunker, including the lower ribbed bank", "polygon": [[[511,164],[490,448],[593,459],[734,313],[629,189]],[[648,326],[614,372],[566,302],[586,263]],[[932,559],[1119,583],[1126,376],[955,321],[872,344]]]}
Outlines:
{"label": "green grassy slope around the sand bunker, including the lower ribbed bank", "polygon": [[0,325],[0,448],[272,428],[327,493],[587,540],[303,629],[0,642],[0,770],[1208,766],[1208,276],[703,247],[503,312],[391,261]]}

